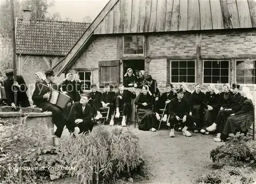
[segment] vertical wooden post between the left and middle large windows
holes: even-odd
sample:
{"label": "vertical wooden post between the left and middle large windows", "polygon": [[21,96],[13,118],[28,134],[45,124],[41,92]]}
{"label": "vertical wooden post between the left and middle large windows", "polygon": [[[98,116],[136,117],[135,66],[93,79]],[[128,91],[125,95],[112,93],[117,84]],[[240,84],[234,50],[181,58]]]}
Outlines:
{"label": "vertical wooden post between the left and middle large windows", "polygon": [[196,60],[196,66],[197,66],[197,72],[196,72],[196,83],[202,84],[203,83],[203,61],[202,61],[202,55],[201,55],[201,45],[202,42],[202,34],[197,33],[197,41],[196,41],[196,53],[197,53],[197,60]]}

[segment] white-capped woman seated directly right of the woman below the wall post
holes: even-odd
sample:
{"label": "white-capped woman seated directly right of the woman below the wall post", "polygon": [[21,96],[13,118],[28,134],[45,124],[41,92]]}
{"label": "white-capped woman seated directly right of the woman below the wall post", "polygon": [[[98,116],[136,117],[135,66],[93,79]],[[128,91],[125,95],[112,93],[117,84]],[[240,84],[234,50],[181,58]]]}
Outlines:
{"label": "white-capped woman seated directly right of the woman below the wall post", "polygon": [[204,99],[204,125],[200,132],[202,134],[209,134],[206,127],[215,122],[219,112],[219,90],[215,88],[214,84],[207,86],[207,92]]}

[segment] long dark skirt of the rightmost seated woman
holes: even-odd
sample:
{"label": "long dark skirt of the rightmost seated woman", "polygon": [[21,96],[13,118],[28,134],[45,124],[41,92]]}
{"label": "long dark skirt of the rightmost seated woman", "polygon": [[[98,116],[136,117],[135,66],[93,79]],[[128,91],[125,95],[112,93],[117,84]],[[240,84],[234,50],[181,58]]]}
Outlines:
{"label": "long dark skirt of the rightmost seated woman", "polygon": [[253,114],[252,113],[245,113],[240,114],[237,116],[230,116],[227,118],[227,121],[225,123],[225,126],[223,128],[222,134],[228,136],[229,134],[234,134],[239,129],[239,125],[243,123],[244,121],[247,121],[249,123],[253,122]]}

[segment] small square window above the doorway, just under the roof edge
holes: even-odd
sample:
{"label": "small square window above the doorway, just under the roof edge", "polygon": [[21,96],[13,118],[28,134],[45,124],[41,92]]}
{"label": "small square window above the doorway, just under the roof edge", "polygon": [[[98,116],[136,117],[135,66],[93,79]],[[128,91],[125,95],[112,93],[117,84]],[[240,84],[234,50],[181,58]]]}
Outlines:
{"label": "small square window above the doorway, just under the roof edge", "polygon": [[124,36],[123,54],[139,55],[143,54],[144,36]]}

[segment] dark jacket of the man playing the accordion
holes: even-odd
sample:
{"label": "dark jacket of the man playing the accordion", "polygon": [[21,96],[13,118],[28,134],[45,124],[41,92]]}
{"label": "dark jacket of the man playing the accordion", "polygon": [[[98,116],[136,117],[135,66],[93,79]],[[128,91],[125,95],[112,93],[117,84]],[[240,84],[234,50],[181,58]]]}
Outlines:
{"label": "dark jacket of the man playing the accordion", "polygon": [[[60,89],[58,88],[58,85],[55,83],[52,83],[52,88],[57,91],[60,91]],[[34,101],[34,104],[38,108],[47,108],[48,106],[52,106],[51,103],[47,101],[47,98],[44,98],[44,95],[50,91],[51,89],[47,87],[46,81],[36,84],[35,90],[32,95],[32,100]]]}

